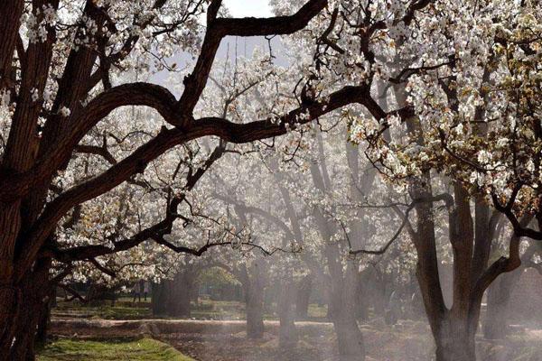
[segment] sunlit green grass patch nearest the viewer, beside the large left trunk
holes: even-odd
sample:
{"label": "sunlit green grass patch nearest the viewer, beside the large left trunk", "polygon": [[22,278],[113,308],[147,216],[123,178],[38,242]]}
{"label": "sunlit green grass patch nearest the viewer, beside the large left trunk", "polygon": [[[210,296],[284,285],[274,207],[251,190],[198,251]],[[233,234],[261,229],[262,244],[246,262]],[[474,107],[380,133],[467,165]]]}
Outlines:
{"label": "sunlit green grass patch nearest the viewer, beside the large left trunk", "polygon": [[152,338],[135,341],[81,341],[62,339],[38,353],[38,361],[194,361]]}

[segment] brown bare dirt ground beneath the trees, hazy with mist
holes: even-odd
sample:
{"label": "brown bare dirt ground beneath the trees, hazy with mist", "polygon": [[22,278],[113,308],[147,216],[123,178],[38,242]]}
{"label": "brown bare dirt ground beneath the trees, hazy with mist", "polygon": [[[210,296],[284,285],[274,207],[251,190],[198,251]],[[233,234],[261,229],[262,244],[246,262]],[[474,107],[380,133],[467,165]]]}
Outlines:
{"label": "brown bare dirt ground beneath the trees, hazy with mist", "polygon": [[[278,347],[278,322],[266,321],[265,337],[249,340],[244,321],[54,319],[51,333],[64,338],[137,338],[150,335],[199,361],[336,361],[332,324],[297,322],[294,350]],[[431,360],[434,343],[425,322],[401,320],[388,327],[380,320],[361,325],[368,361]],[[478,342],[480,361],[542,361],[542,330],[518,330],[500,342]]]}

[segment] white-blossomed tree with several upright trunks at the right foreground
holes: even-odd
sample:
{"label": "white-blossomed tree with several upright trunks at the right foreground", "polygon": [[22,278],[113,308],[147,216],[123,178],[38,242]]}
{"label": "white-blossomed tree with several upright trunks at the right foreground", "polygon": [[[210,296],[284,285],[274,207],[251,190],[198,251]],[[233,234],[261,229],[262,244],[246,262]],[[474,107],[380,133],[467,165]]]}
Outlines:
{"label": "white-blossomed tree with several upright trunks at the right foreground", "polygon": [[[521,236],[540,239],[529,226],[540,218],[540,8],[488,1],[435,2],[427,9],[416,19],[419,28],[388,33],[396,51],[382,60],[388,63],[388,86],[380,95],[393,94],[396,106],[414,106],[413,115],[352,119],[352,130],[367,142],[379,171],[412,197],[417,277],[437,360],[474,360],[483,293],[501,273],[519,266]],[[437,191],[437,180],[450,182],[450,191]],[[438,278],[437,202],[449,214],[451,307]],[[515,236],[509,237],[508,255],[490,263],[499,213]]]}

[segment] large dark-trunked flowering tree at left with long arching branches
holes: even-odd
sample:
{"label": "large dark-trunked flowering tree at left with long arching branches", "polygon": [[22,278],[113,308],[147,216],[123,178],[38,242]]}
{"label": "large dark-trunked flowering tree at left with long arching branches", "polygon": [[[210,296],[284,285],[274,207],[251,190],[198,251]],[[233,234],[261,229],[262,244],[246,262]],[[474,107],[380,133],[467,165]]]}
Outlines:
{"label": "large dark-trunked flowering tree at left with long arching branches", "polygon": [[[275,2],[279,15],[267,19],[230,18],[220,0],[10,0],[0,7],[0,360],[33,357],[34,310],[70,264],[107,271],[107,255],[145,241],[201,255],[238,239],[226,230],[201,247],[173,242],[183,232],[175,226],[186,222],[178,208],[191,208],[187,193],[224,143],[274,138],[353,104],[378,122],[413,115],[402,103],[378,106],[375,80],[409,74],[412,61],[399,61],[408,55],[433,55],[410,36],[434,29],[429,15],[414,21],[430,1],[298,3]],[[253,89],[253,111],[199,106],[225,37],[287,34],[295,61],[288,72],[264,67],[274,87]],[[397,48],[405,53],[390,65]],[[182,51],[194,61],[178,70],[168,59]],[[243,71],[261,71],[255,65]],[[180,96],[123,76],[140,67],[170,73]],[[138,112],[143,107],[154,120]],[[210,136],[221,139],[208,143],[216,148],[196,152],[207,146],[197,140]],[[138,212],[136,203],[150,206]],[[222,241],[227,234],[233,238]],[[53,262],[67,267],[51,279]]]}

